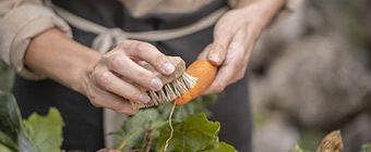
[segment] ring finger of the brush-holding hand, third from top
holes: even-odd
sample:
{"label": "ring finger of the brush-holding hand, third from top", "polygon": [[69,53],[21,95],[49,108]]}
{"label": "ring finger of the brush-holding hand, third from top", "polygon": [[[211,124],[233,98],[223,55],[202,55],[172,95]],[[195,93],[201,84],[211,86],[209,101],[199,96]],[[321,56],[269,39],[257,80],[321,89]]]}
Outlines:
{"label": "ring finger of the brush-holding hand, third from top", "polygon": [[104,89],[133,102],[148,103],[151,98],[133,85],[123,81],[109,71],[97,72],[96,83]]}

